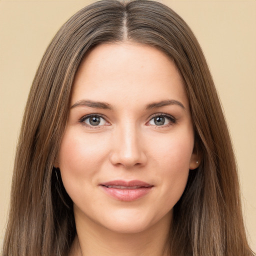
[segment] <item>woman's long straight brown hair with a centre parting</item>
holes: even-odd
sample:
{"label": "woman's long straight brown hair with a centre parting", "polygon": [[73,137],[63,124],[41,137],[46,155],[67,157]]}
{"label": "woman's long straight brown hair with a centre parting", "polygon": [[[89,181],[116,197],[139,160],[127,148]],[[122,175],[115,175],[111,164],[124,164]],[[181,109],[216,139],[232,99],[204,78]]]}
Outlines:
{"label": "woman's long straight brown hair with a centre parting", "polygon": [[157,47],[176,64],[190,103],[202,161],[174,206],[173,256],[254,255],[243,226],[237,168],[221,105],[200,46],[167,6],[103,0],[78,11],[46,49],[28,96],[17,145],[3,256],[68,253],[72,201],[53,167],[75,72],[95,45],[123,40]]}

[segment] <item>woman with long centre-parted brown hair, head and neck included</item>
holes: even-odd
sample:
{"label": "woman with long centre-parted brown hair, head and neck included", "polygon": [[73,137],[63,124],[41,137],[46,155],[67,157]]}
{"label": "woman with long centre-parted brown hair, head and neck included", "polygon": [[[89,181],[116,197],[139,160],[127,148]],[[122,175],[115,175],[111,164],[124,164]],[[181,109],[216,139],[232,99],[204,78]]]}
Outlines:
{"label": "woman with long centre-parted brown hair, head and neck included", "polygon": [[60,28],[38,67],[3,255],[150,253],[253,255],[191,30],[157,2],[100,1]]}

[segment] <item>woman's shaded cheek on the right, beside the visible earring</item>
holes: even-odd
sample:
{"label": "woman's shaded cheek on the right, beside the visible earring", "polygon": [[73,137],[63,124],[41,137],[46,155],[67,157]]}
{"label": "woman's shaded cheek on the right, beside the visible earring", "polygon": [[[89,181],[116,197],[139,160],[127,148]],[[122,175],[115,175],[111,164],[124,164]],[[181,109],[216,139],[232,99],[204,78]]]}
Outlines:
{"label": "woman's shaded cheek on the right, beside the visible earring", "polygon": [[158,184],[161,186],[161,201],[166,203],[163,208],[165,211],[174,206],[184,191],[193,143],[193,132],[189,131],[158,137],[153,143],[155,146],[150,147]]}

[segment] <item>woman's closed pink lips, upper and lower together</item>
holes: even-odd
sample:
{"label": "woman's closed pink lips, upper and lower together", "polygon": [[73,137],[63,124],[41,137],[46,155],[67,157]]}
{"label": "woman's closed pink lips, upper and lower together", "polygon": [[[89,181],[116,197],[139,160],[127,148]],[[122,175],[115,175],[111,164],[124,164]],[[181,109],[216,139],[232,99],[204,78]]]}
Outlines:
{"label": "woman's closed pink lips, upper and lower together", "polygon": [[121,201],[133,201],[146,195],[153,185],[140,180],[112,180],[100,184],[110,196]]}

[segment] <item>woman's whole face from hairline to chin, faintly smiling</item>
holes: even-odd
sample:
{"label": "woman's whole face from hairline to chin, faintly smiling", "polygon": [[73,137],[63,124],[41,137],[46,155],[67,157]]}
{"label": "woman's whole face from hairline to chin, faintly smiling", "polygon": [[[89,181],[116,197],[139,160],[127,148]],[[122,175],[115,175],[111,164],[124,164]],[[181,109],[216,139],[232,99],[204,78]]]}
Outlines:
{"label": "woman's whole face from hairline to chin, faintly smiling", "polygon": [[56,165],[76,221],[116,232],[168,224],[197,167],[188,99],[156,48],[101,44],[75,75]]}

